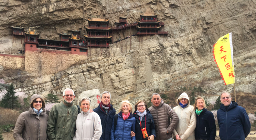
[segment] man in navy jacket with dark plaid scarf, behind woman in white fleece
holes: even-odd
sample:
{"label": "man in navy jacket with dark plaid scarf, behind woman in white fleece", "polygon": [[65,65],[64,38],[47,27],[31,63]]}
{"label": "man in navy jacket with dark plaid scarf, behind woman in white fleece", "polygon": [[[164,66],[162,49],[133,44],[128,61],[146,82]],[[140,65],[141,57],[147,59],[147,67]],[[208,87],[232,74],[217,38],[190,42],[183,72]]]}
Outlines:
{"label": "man in navy jacket with dark plaid scarf, behind woman in white fleece", "polygon": [[100,96],[101,102],[93,111],[98,113],[102,122],[102,136],[100,140],[110,140],[110,130],[116,110],[110,104],[111,94],[108,91],[102,92]]}

